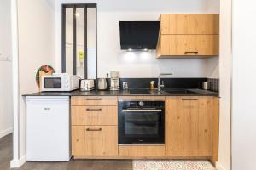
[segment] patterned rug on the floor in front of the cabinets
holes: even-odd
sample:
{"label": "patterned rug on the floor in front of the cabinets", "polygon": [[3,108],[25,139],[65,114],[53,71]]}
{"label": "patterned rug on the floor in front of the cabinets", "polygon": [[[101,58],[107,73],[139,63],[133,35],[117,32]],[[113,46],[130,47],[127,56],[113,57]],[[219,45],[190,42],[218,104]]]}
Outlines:
{"label": "patterned rug on the floor in front of the cabinets", "polygon": [[132,164],[133,170],[215,170],[209,161],[134,160]]}

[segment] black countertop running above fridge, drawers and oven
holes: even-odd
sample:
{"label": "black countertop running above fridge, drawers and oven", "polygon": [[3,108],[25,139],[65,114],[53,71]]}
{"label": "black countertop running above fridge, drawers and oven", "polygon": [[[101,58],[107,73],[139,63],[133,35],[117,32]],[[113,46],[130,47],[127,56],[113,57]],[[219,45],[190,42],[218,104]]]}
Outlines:
{"label": "black countertop running above fridge, drawers and oven", "polygon": [[[143,89],[146,90],[146,89]],[[163,89],[165,90],[165,89]],[[218,93],[201,90],[201,89],[189,89],[193,93],[167,93],[164,91],[157,90],[149,90],[148,94],[131,94],[130,90],[119,90],[119,91],[97,91],[93,90],[90,92],[81,92],[79,90],[75,90],[73,92],[38,92],[33,94],[24,94],[23,96],[215,96],[218,97]]]}

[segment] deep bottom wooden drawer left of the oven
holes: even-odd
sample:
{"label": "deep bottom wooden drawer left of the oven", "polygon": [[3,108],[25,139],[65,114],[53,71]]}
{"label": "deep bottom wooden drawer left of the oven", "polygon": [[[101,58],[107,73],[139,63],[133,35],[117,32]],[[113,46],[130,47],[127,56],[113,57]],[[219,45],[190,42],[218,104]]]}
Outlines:
{"label": "deep bottom wooden drawer left of the oven", "polygon": [[73,156],[117,156],[117,126],[72,126]]}

